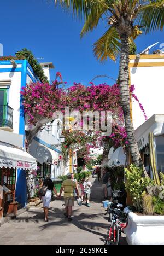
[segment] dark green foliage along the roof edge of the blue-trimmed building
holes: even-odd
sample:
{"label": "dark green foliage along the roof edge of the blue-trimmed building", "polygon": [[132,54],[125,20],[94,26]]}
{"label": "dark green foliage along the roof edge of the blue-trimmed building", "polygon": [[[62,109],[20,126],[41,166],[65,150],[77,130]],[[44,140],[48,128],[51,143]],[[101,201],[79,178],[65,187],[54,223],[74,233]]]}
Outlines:
{"label": "dark green foliage along the roof edge of the blue-trimmed building", "polygon": [[16,53],[16,57],[19,59],[19,57],[25,57],[27,59],[28,63],[31,65],[34,73],[37,75],[39,80],[43,83],[49,83],[42,67],[36,60],[36,58],[33,56],[32,52],[30,50],[27,50],[26,48],[22,49],[21,51],[18,51]]}

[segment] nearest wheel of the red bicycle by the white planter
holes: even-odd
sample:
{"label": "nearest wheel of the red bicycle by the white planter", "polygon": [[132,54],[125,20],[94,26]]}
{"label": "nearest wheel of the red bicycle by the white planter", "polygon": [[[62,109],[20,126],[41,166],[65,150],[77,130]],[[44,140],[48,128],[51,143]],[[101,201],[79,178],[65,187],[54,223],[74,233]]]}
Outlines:
{"label": "nearest wheel of the red bicycle by the white planter", "polygon": [[112,223],[107,231],[105,245],[119,245],[119,228],[116,223]]}

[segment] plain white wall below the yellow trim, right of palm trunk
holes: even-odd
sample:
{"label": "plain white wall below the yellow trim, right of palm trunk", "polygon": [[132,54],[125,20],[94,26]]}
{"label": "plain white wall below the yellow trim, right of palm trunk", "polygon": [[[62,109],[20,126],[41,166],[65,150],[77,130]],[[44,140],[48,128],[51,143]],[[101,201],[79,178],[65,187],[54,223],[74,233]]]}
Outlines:
{"label": "plain white wall below the yellow trim, right of palm trunk", "polygon": [[[162,59],[163,60],[163,59]],[[142,60],[143,62],[143,60]],[[149,62],[152,62],[149,60]],[[161,61],[160,61],[161,62]],[[164,66],[130,68],[131,85],[135,85],[134,94],[143,105],[147,117],[164,113]],[[136,100],[132,101],[134,129],[145,122],[142,110]]]}

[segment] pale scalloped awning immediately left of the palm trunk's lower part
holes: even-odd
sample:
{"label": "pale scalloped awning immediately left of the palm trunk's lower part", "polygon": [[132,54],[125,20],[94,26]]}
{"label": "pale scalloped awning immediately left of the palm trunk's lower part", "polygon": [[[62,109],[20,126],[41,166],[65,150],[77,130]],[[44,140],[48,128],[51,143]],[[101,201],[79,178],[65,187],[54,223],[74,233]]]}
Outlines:
{"label": "pale scalloped awning immediately left of the palm trunk's lower part", "polygon": [[108,162],[109,167],[123,167],[126,164],[126,155],[122,147],[117,148]]}

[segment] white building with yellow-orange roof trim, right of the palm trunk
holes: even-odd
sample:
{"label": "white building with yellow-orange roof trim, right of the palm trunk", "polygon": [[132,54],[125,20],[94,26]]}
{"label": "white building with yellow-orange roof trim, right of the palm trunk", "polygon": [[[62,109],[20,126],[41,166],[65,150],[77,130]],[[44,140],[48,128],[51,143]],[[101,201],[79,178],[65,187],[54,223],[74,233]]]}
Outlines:
{"label": "white building with yellow-orange roof trim, right of the palm trunk", "polygon": [[[136,55],[130,56],[130,84],[135,85],[134,94],[143,105],[148,117],[164,113],[164,55]],[[145,122],[139,104],[132,100],[132,118],[134,129]]]}

